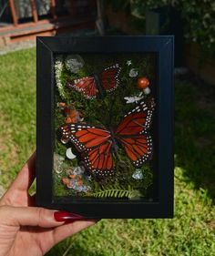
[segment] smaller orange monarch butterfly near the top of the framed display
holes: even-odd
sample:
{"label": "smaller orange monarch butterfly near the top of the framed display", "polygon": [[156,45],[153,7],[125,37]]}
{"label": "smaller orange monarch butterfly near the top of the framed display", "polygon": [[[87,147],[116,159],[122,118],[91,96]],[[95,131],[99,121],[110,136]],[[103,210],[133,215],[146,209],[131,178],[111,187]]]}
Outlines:
{"label": "smaller orange monarch butterfly near the top of the framed display", "polygon": [[90,77],[82,77],[67,82],[67,87],[72,87],[88,99],[105,97],[106,92],[110,92],[118,87],[118,75],[121,70],[118,64],[105,68],[101,73]]}

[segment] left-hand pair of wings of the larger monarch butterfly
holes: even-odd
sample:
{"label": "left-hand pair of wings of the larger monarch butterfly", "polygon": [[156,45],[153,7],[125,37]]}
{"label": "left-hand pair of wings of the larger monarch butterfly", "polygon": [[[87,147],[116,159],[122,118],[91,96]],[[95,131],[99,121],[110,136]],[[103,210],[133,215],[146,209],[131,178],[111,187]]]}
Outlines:
{"label": "left-hand pair of wings of the larger monarch butterfly", "polygon": [[61,128],[63,143],[72,142],[85,161],[87,169],[98,176],[114,172],[112,139],[109,131],[83,124],[71,124]]}

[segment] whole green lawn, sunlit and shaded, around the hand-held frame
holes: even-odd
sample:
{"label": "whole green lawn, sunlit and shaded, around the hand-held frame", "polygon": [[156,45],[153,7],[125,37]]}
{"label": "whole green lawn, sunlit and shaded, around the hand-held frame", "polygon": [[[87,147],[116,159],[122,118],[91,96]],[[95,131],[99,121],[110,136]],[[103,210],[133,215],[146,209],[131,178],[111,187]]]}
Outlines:
{"label": "whole green lawn, sunlit and shaded, around the hand-held frame", "polygon": [[[0,56],[0,165],[5,188],[36,147],[35,61],[35,48]],[[176,81],[173,220],[100,220],[47,255],[215,255],[214,92],[198,81]]]}

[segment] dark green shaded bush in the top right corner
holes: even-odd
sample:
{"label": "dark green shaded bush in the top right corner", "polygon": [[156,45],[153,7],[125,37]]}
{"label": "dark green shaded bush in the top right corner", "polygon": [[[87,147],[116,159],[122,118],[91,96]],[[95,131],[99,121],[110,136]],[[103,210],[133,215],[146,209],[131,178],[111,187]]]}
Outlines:
{"label": "dark green shaded bush in the top right corner", "polygon": [[[121,2],[121,5],[120,5]],[[131,15],[144,21],[148,9],[172,5],[184,20],[185,37],[196,42],[203,51],[215,53],[215,2],[211,0],[126,0],[110,1],[114,10],[128,10]],[[138,24],[138,23],[136,23]]]}

